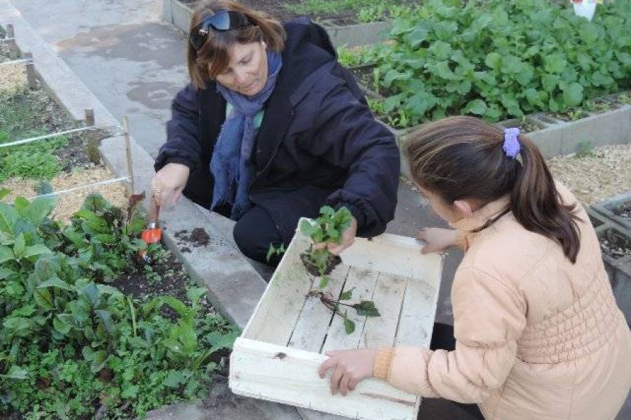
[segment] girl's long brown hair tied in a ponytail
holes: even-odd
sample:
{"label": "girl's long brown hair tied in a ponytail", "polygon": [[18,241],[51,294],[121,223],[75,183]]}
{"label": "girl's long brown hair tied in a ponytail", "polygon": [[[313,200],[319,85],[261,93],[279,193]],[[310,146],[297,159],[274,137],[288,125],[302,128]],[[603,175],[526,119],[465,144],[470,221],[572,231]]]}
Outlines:
{"label": "girl's long brown hair tied in a ponytail", "polygon": [[562,204],[538,148],[520,135],[520,160],[503,151],[504,133],[473,117],[450,117],[412,134],[405,146],[414,181],[447,203],[482,205],[510,195],[510,211],[531,232],[561,244],[571,262],[580,248],[574,205]]}

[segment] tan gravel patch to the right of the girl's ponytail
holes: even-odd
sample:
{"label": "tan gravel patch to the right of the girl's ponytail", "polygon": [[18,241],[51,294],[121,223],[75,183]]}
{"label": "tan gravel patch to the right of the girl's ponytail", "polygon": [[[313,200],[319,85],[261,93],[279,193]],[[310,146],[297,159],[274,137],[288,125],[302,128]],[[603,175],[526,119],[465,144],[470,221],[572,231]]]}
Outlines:
{"label": "tan gravel patch to the right of the girl's ponytail", "polygon": [[602,146],[583,153],[557,156],[548,167],[578,200],[593,204],[631,191],[631,144]]}

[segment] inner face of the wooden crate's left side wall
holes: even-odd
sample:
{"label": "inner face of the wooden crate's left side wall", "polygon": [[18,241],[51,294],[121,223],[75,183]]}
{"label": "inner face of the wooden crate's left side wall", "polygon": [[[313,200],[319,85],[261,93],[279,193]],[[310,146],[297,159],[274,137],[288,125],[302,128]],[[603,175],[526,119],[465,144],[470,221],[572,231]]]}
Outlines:
{"label": "inner face of the wooden crate's left side wall", "polygon": [[287,344],[312,286],[312,279],[300,260],[300,253],[308,244],[306,237],[294,236],[242,337]]}

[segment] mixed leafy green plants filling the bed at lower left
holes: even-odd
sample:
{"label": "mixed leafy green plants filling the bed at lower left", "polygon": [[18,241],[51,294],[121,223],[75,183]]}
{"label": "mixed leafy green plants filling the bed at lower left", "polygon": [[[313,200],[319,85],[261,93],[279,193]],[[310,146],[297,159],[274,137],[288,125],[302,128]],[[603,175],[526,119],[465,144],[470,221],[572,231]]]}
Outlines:
{"label": "mixed leafy green plants filling the bed at lower left", "polygon": [[238,330],[201,311],[204,289],[189,289],[185,304],[102,283],[139,269],[129,263],[144,246],[137,214],[99,195],[69,226],[52,209],[47,198],[0,202],[0,414],[63,419],[100,407],[113,419],[196,398]]}

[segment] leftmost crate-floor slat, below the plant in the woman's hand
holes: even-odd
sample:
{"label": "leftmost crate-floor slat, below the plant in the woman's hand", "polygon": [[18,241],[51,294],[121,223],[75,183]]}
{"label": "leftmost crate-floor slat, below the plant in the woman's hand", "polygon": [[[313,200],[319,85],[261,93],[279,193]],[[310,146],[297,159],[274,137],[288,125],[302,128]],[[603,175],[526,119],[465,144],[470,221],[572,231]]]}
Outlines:
{"label": "leftmost crate-floor slat, below the plant in the woman's hand", "polygon": [[[344,287],[349,269],[350,267],[348,267],[348,265],[338,265],[331,272],[329,284],[322,291],[327,295],[330,294],[334,299],[337,299]],[[315,279],[313,286],[317,287],[319,282],[320,279]],[[320,302],[318,296],[307,297],[287,346],[318,353],[327,336],[327,330],[329,329],[333,316],[332,311],[327,309],[327,307]]]}

